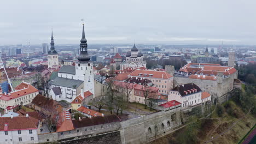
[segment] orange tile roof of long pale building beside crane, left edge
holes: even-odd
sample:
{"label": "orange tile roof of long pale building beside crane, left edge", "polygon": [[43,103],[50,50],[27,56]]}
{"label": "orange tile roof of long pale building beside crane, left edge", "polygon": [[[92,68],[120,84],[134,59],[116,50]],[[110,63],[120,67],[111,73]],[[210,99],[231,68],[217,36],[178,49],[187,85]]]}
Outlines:
{"label": "orange tile roof of long pale building beside crane, left edge", "polygon": [[15,91],[15,92],[10,92],[6,95],[5,94],[0,94],[0,99],[2,99],[2,100],[15,99],[15,98],[19,98],[19,97],[22,97],[24,95],[27,95],[27,94],[34,93],[34,92],[38,92],[38,89],[36,89],[35,87],[33,87],[31,85],[28,85],[24,89],[20,89],[20,90]]}

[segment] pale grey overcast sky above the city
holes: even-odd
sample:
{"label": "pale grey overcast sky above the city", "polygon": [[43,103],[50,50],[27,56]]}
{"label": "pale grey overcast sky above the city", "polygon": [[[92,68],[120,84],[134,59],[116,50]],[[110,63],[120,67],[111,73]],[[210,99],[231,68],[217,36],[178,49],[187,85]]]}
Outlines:
{"label": "pale grey overcast sky above the city", "polygon": [[1,1],[0,45],[88,44],[256,45],[255,0]]}

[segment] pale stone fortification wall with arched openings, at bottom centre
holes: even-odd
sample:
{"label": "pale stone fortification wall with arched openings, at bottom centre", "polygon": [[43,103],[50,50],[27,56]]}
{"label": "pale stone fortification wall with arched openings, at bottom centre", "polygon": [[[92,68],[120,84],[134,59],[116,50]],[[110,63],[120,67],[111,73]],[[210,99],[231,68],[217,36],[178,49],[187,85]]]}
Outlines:
{"label": "pale stone fortification wall with arched openings, at bottom centre", "polygon": [[178,127],[179,111],[161,111],[121,122],[122,143],[147,143]]}

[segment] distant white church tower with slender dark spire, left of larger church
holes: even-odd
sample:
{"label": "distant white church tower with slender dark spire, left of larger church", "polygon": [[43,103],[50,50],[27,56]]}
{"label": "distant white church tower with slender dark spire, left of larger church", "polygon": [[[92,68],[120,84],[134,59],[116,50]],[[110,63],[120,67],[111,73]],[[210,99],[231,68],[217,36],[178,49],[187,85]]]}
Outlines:
{"label": "distant white church tower with slender dark spire, left of larger church", "polygon": [[59,54],[54,47],[53,30],[51,30],[51,48],[48,51],[48,68],[59,68]]}

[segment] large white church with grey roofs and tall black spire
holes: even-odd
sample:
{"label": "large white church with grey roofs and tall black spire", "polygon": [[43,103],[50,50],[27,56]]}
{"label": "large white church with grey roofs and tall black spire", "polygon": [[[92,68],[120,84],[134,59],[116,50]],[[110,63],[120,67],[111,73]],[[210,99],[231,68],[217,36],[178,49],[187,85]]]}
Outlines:
{"label": "large white church with grey roofs and tall black spire", "polygon": [[80,42],[80,55],[75,66],[63,65],[57,72],[57,76],[49,82],[49,96],[54,100],[66,100],[71,103],[81,93],[81,89],[84,89],[84,92],[95,93],[93,64],[90,62],[90,56],[87,52],[84,25]]}

